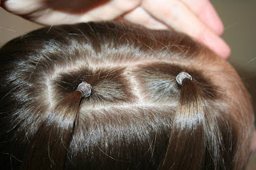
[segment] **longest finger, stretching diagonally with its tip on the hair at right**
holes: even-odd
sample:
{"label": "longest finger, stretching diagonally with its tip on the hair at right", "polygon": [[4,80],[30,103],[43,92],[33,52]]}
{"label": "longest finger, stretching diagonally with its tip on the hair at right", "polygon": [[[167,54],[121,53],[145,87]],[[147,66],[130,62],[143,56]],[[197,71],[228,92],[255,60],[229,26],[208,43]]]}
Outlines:
{"label": "longest finger, stretching diagonally with its tip on the hair at right", "polygon": [[208,46],[220,57],[228,58],[230,48],[226,42],[210,30],[198,17],[179,0],[146,0],[142,2],[142,8],[154,18],[174,30],[181,31],[198,42]]}

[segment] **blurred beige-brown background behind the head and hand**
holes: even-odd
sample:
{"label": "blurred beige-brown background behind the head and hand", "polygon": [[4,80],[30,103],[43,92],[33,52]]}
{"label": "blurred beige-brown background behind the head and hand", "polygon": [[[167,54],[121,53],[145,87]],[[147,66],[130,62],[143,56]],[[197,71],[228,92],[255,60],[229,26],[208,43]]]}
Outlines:
{"label": "blurred beige-brown background behind the head and hand", "polygon": [[[191,0],[192,1],[192,0]],[[230,62],[254,99],[256,109],[256,0],[212,0],[225,26],[224,40],[230,45]],[[42,26],[7,13],[0,8],[0,46]],[[256,169],[256,153],[246,170]]]}

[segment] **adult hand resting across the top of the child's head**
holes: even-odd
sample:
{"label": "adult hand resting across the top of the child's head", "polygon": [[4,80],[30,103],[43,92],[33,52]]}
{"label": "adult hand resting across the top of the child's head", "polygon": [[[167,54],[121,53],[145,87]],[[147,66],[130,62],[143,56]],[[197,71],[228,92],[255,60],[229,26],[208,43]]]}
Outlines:
{"label": "adult hand resting across the top of the child's head", "polygon": [[2,7],[43,25],[122,18],[150,29],[178,30],[220,57],[230,48],[219,36],[223,25],[209,0],[4,0]]}

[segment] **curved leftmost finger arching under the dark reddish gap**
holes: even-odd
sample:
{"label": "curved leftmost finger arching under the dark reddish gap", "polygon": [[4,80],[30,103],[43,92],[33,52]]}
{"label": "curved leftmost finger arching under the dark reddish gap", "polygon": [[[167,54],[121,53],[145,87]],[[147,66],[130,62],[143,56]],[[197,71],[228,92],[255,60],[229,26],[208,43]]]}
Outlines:
{"label": "curved leftmost finger arching under the dark reddish gap", "polygon": [[[68,3],[68,1],[63,1]],[[46,0],[6,0],[3,6],[13,14],[43,25],[113,20],[141,4],[141,0],[109,0],[85,12],[70,14],[47,5]],[[66,4],[65,6],[69,6]],[[64,5],[63,5],[64,6]],[[74,10],[74,9],[73,9]],[[81,13],[81,14],[80,14]]]}

